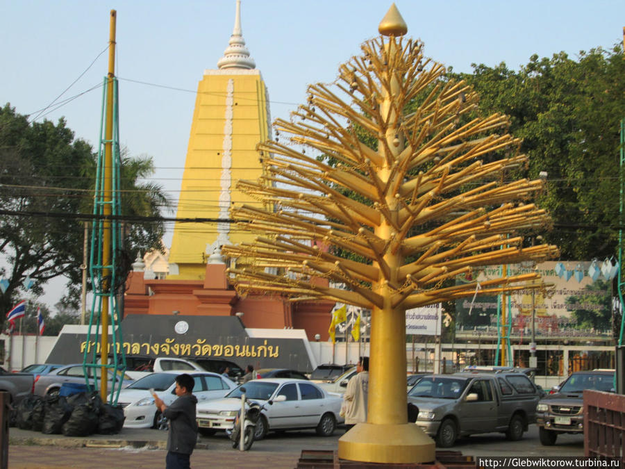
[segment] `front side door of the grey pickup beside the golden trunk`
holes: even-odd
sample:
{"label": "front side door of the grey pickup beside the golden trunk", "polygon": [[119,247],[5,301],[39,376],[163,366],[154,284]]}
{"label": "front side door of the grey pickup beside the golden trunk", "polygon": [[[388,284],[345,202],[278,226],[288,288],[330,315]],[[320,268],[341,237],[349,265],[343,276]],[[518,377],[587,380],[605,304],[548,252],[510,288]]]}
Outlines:
{"label": "front side door of the grey pickup beside the golden trunk", "polygon": [[[459,405],[460,429],[467,433],[492,431],[497,425],[497,402],[490,379],[475,379],[469,385]],[[477,395],[477,400],[467,401],[467,396]]]}

